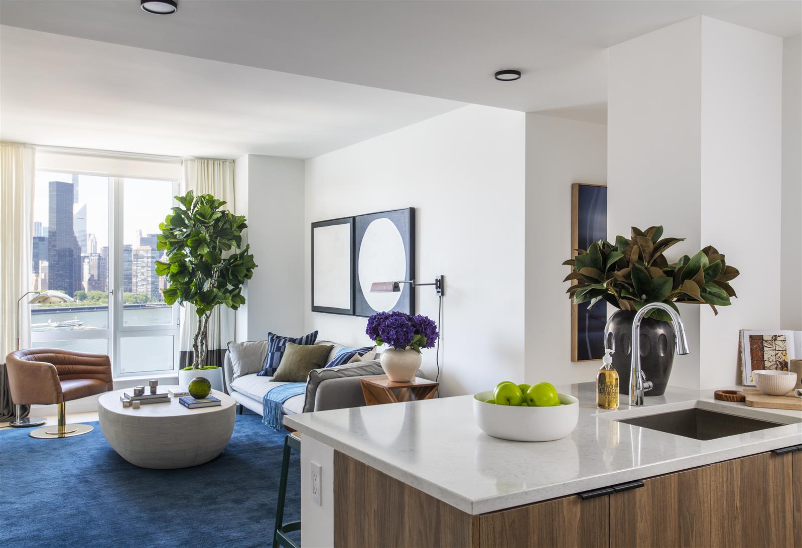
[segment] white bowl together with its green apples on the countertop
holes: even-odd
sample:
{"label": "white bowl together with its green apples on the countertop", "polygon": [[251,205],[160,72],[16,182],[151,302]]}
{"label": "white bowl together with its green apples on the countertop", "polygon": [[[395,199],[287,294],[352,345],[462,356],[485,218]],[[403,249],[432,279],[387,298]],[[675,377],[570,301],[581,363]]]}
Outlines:
{"label": "white bowl together with its green apples on the countertop", "polygon": [[473,416],[484,433],[503,440],[559,440],[577,428],[579,400],[549,383],[504,381],[473,396]]}

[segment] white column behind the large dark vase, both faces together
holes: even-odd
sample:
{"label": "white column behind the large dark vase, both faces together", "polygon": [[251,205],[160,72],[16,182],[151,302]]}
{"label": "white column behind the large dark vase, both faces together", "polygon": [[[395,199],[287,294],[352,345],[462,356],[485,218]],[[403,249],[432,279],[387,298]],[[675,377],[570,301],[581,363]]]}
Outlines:
{"label": "white column behind the large dark vase, both faces together", "polygon": [[680,306],[677,386],[735,383],[738,330],[778,327],[781,63],[781,39],[705,17],[610,48],[608,233],[663,225],[670,260],[713,245],[742,273],[718,317]]}

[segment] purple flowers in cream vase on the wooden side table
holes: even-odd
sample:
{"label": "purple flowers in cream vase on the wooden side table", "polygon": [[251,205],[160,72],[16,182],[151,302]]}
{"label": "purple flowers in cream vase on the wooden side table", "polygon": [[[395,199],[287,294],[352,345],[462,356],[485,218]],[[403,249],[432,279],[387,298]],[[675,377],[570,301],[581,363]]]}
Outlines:
{"label": "purple flowers in cream vase on the wooden side table", "polygon": [[420,349],[434,348],[439,333],[437,324],[426,316],[403,312],[379,312],[367,320],[367,336],[377,347],[389,348],[379,355],[387,378],[406,383],[420,369]]}

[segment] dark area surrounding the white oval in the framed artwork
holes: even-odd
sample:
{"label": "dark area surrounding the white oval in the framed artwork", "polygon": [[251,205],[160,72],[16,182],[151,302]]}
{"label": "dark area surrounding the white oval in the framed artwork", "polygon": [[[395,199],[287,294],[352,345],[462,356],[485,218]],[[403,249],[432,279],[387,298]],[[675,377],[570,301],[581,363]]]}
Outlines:
{"label": "dark area surrounding the white oval in the framed artwork", "polygon": [[[371,222],[377,219],[386,218],[391,221],[395,228],[401,234],[404,247],[404,259],[406,261],[406,270],[403,279],[415,279],[415,208],[405,209],[391,209],[390,211],[380,211],[378,213],[367,213],[366,215],[358,215],[354,217],[354,298],[355,298],[355,312],[357,316],[367,318],[377,312],[370,304],[368,304],[365,294],[363,293],[362,281],[359,279],[359,260],[360,248],[362,246],[363,237],[367,227]],[[371,282],[399,282],[400,280],[366,280],[367,284]],[[415,288],[411,284],[403,284],[405,286],[403,294],[399,301],[391,311],[406,312],[410,315],[415,315]]]}

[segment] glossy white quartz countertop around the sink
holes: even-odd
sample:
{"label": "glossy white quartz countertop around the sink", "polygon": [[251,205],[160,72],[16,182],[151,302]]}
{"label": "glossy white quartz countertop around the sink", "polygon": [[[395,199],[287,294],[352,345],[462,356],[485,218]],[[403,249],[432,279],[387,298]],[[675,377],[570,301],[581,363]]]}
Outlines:
{"label": "glossy white quartz countertop around the sink", "polygon": [[[715,401],[713,390],[668,388],[630,408],[595,405],[593,383],[558,387],[577,396],[579,422],[561,440],[518,442],[488,436],[473,418],[473,396],[337,409],[284,417],[284,423],[467,513],[478,514],[802,444],[802,412]],[[715,404],[714,404],[715,401]],[[618,419],[711,405],[785,424],[700,441]]]}

